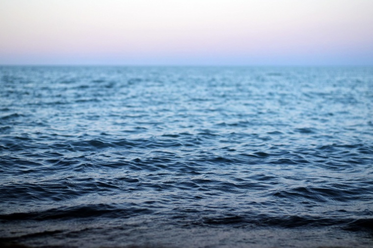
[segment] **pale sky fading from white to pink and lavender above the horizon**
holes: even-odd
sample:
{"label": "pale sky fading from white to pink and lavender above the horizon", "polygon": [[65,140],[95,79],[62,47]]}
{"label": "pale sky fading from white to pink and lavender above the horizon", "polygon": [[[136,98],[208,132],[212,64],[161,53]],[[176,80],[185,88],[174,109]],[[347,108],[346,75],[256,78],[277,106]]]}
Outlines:
{"label": "pale sky fading from white to pink and lavender above the horizon", "polygon": [[0,0],[1,65],[373,65],[373,0]]}

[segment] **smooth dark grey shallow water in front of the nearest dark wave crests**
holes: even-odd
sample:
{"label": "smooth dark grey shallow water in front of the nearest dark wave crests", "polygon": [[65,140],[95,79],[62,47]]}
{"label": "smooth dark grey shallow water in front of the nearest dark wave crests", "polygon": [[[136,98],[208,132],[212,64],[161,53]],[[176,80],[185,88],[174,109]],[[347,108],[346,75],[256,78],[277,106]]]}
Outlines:
{"label": "smooth dark grey shallow water in front of the nearest dark wave crests", "polygon": [[54,220],[3,225],[13,231],[2,231],[0,244],[36,248],[370,248],[371,227],[351,231],[338,226],[172,224],[154,218]]}

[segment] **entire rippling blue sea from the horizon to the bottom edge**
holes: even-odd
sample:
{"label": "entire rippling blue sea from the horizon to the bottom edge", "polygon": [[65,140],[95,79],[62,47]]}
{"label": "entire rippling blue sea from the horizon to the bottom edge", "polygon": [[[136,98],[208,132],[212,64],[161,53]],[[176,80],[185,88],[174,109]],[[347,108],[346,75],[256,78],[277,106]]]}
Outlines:
{"label": "entire rippling blue sea from the horizon to the bottom edge", "polygon": [[373,68],[0,67],[0,244],[372,247]]}

